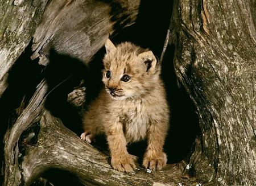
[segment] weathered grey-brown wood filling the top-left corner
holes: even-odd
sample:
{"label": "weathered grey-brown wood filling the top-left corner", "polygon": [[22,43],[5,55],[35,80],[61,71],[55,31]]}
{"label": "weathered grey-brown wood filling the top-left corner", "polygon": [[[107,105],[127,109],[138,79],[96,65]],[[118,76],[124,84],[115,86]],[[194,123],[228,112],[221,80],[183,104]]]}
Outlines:
{"label": "weathered grey-brown wood filling the top-left corner", "polygon": [[0,1],[0,97],[7,88],[7,72],[34,34],[48,0]]}

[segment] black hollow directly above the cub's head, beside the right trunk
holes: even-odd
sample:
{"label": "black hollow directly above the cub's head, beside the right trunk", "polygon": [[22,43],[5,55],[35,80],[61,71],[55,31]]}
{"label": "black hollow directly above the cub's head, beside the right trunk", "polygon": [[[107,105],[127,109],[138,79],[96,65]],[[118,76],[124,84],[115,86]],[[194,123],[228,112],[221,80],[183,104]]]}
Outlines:
{"label": "black hollow directly above the cub's head, beside the right trunk", "polygon": [[118,32],[113,41],[130,41],[143,48],[150,48],[160,56],[167,29],[170,26],[172,1],[142,0],[135,24]]}

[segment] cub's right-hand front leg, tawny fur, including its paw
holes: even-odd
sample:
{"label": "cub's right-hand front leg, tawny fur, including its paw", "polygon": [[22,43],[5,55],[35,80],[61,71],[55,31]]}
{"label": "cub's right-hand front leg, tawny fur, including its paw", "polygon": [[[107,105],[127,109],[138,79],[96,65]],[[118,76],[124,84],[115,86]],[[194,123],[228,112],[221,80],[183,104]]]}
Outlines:
{"label": "cub's right-hand front leg, tawny fur, including its paw", "polygon": [[150,170],[161,170],[167,163],[167,155],[163,152],[164,140],[168,130],[168,119],[161,123],[152,122],[147,131],[147,149],[143,166]]}

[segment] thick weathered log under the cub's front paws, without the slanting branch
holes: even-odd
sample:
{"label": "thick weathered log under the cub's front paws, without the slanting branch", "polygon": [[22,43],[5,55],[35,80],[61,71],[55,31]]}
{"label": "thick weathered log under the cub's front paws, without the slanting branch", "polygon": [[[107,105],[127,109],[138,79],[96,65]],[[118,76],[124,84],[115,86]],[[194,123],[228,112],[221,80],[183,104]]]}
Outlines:
{"label": "thick weathered log under the cub's front paws, without the slanting branch", "polygon": [[[169,164],[164,170],[147,173],[139,167],[134,173],[122,173],[110,166],[110,157],[82,141],[68,130],[60,119],[44,111],[39,134],[34,145],[27,143],[23,157],[24,183],[31,184],[48,168],[59,168],[73,173],[85,185],[177,185],[192,184],[195,180],[181,179],[178,166]],[[31,136],[27,134],[28,136]]]}

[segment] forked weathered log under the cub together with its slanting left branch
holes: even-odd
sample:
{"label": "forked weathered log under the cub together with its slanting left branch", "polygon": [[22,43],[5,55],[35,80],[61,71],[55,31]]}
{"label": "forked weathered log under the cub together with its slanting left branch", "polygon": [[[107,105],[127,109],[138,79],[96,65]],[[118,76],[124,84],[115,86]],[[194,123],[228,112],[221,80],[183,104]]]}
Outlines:
{"label": "forked weathered log under the cub together with its slanting left branch", "polygon": [[85,185],[199,183],[195,179],[182,178],[179,164],[169,164],[162,171],[151,173],[139,165],[134,173],[113,170],[107,154],[81,140],[43,108],[46,97],[47,84],[42,81],[27,108],[6,134],[5,185],[31,185],[50,168],[71,172]]}

